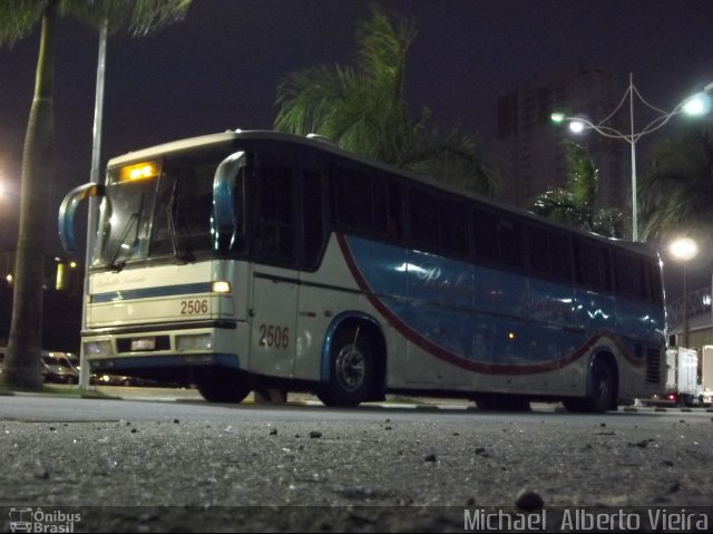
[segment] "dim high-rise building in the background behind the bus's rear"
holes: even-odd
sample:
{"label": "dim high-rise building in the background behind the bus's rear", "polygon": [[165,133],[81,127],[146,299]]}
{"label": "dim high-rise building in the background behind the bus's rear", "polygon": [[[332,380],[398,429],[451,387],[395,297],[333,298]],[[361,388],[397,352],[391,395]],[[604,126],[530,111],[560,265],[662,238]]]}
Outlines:
{"label": "dim high-rise building in the background behind the bus's rear", "polygon": [[[553,111],[582,116],[593,123],[626,117],[607,116],[616,109],[622,93],[611,72],[575,68],[548,76],[535,76],[512,93],[498,98],[496,153],[500,163],[498,200],[528,206],[545,191],[567,184],[567,159],[563,139],[573,138],[551,122]],[[599,169],[599,206],[631,211],[631,163],[628,145],[597,134],[574,138],[585,145]]]}

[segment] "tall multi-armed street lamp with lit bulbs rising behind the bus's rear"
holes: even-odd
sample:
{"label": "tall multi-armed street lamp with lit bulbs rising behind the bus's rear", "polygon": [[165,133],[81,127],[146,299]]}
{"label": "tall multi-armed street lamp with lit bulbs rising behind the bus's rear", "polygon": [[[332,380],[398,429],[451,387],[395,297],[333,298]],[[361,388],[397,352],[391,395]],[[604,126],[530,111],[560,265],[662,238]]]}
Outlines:
{"label": "tall multi-armed street lamp with lit bulbs rising behind the bus's rear", "polygon": [[[678,104],[673,111],[664,111],[657,107],[648,104],[644,97],[642,97],[638,89],[634,86],[634,75],[629,72],[628,75],[628,89],[624,94],[622,101],[616,106],[616,109],[612,111],[604,120],[594,124],[590,120],[582,117],[567,117],[563,113],[553,113],[551,120],[554,123],[569,123],[569,129],[575,134],[582,134],[586,130],[594,130],[604,137],[609,137],[612,139],[624,139],[632,146],[632,241],[638,241],[638,206],[636,200],[636,142],[641,139],[643,136],[656,132],[658,128],[664,126],[671,120],[672,117],[678,115],[681,113],[692,116],[705,115],[711,110],[711,97],[709,93],[713,91],[713,82],[705,86],[704,90],[697,93],[681,104]],[[648,123],[643,129],[639,132],[635,132],[634,126],[634,96],[636,96],[646,107],[653,109],[658,114],[656,118],[654,118],[651,123]],[[629,108],[629,133],[619,132],[611,126],[607,126],[606,123],[622,108],[624,103],[628,99],[628,108]]]}

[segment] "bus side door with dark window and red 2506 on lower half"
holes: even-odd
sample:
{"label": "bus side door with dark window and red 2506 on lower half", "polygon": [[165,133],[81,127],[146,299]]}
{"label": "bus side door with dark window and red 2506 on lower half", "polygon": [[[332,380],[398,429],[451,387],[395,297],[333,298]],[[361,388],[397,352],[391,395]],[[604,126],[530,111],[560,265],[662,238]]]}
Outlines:
{"label": "bus side door with dark window and red 2506 on lower half", "polygon": [[293,165],[257,156],[253,178],[250,370],[292,377],[300,278],[299,175]]}

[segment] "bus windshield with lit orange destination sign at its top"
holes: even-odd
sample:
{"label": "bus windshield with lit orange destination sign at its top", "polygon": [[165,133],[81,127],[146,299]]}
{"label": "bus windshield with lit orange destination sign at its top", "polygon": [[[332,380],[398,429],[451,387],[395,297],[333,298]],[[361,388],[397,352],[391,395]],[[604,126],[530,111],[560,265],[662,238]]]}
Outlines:
{"label": "bus windshield with lit orange destination sign at its top", "polygon": [[211,253],[213,179],[229,153],[222,145],[109,168],[92,266]]}

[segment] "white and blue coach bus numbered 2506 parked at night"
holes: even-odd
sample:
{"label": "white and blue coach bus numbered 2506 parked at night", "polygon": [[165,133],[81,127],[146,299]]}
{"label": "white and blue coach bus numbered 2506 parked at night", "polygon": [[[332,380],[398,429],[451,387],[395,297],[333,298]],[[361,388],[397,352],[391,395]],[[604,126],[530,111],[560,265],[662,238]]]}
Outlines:
{"label": "white and blue coach bus numbered 2506 parked at night", "polygon": [[109,161],[88,266],[91,373],[208,401],[309,391],[606,411],[663,389],[662,265],[315,137],[226,132]]}

